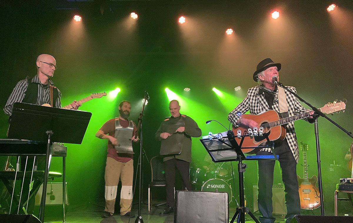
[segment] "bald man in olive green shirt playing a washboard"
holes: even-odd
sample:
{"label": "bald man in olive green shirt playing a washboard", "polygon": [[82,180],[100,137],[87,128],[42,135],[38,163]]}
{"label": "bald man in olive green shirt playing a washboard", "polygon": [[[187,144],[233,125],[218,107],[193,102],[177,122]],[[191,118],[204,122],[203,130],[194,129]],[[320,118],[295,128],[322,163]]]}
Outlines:
{"label": "bald man in olive green shirt playing a washboard", "polygon": [[[200,137],[201,129],[197,123],[186,115],[180,114],[180,106],[177,100],[169,103],[169,110],[171,117],[165,119],[158,128],[155,137],[158,140],[165,140],[172,134],[183,134],[181,139],[180,149],[181,153],[175,156],[166,156],[163,158],[165,174],[166,174],[166,192],[167,192],[167,206],[166,209],[160,213],[160,216],[172,215],[174,212],[174,183],[175,183],[175,168],[178,169],[181,180],[183,181],[183,188],[192,190],[189,179],[189,167],[191,163],[191,137]],[[175,130],[175,133],[167,131],[167,126],[175,125],[176,123],[183,123],[182,126]],[[175,146],[173,146],[175,147]],[[163,148],[164,149],[164,148]]]}

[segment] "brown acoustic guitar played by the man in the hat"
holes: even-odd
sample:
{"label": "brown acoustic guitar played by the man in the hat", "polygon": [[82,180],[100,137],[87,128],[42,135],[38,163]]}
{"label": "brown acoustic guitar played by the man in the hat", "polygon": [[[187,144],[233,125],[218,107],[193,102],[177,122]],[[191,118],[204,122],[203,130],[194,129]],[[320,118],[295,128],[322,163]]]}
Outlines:
{"label": "brown acoustic guitar played by the man in the hat", "polygon": [[[321,110],[322,113],[326,113],[326,114],[333,114],[335,112],[338,113],[338,111],[341,111],[341,110],[344,111],[344,109],[346,109],[346,103],[336,102],[336,101],[334,101],[334,103],[327,103],[325,104],[324,107],[319,108],[319,110]],[[249,154],[258,152],[260,148],[256,148],[256,147],[267,141],[266,136],[268,136],[270,141],[275,141],[275,142],[282,141],[283,139],[286,138],[286,128],[284,127],[284,125],[299,119],[305,119],[310,116],[309,113],[310,111],[307,111],[305,113],[301,113],[291,117],[286,117],[283,119],[280,118],[279,114],[275,110],[268,110],[258,115],[249,115],[249,114],[241,115],[242,118],[253,120],[256,123],[258,123],[259,127],[263,127],[262,136],[258,135],[252,138],[250,137],[244,138],[243,144],[241,146],[242,147],[241,150],[244,153],[249,153]],[[247,131],[247,129],[244,127],[240,126],[236,128],[234,125],[232,130],[234,135],[237,135],[238,130],[240,130],[242,133],[244,131]],[[237,141],[238,144],[240,144],[241,139],[235,137],[235,140]]]}

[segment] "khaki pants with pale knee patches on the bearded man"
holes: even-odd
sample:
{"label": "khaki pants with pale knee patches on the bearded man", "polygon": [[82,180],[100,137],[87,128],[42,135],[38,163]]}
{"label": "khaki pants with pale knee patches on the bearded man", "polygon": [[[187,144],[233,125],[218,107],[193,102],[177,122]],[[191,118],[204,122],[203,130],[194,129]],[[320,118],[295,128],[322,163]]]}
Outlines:
{"label": "khaki pants with pale knee patches on the bearded man", "polygon": [[121,180],[120,191],[120,215],[125,215],[131,210],[132,203],[132,179],[133,179],[133,159],[123,163],[107,157],[105,199],[106,208],[104,211],[113,215],[115,198],[118,189],[119,178]]}

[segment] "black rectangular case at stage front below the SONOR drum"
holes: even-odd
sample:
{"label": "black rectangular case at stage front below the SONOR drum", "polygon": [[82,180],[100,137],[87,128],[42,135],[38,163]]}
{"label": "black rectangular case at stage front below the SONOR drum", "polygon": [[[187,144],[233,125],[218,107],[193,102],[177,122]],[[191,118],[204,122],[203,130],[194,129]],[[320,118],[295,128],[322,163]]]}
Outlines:
{"label": "black rectangular case at stage front below the SONOR drum", "polygon": [[228,223],[228,193],[176,191],[174,223]]}

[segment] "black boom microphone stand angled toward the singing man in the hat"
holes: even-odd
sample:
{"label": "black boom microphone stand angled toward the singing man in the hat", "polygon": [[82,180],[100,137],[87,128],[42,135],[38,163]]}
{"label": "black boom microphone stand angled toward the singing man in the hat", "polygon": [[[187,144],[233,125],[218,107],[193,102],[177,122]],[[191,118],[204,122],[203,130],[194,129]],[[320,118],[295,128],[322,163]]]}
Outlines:
{"label": "black boom microphone stand angled toward the singing man in the hat", "polygon": [[[286,89],[287,91],[291,92],[292,95],[297,97],[301,102],[304,102],[312,108],[313,111],[315,111],[316,114],[318,114],[321,117],[324,117],[325,119],[329,120],[331,123],[333,123],[335,126],[337,126],[339,129],[341,129],[343,132],[345,132],[349,137],[353,138],[353,135],[351,132],[348,132],[346,129],[341,127],[339,124],[331,120],[329,117],[327,117],[324,113],[322,113],[319,109],[316,107],[312,106],[309,102],[306,102],[303,98],[299,97],[295,92],[289,90],[286,86],[284,86],[282,83],[277,82],[276,85],[280,86],[283,89]],[[316,140],[316,155],[317,155],[317,171],[318,171],[318,185],[319,185],[319,193],[320,193],[320,203],[321,203],[321,216],[325,216],[325,210],[324,210],[324,199],[323,199],[323,193],[322,193],[322,179],[321,179],[321,158],[320,158],[320,141],[319,141],[319,127],[317,123],[317,119],[315,120],[314,123],[314,132],[315,132],[315,140]]]}

